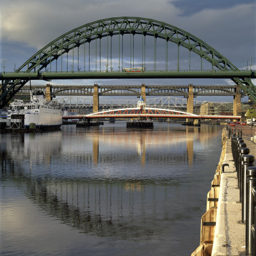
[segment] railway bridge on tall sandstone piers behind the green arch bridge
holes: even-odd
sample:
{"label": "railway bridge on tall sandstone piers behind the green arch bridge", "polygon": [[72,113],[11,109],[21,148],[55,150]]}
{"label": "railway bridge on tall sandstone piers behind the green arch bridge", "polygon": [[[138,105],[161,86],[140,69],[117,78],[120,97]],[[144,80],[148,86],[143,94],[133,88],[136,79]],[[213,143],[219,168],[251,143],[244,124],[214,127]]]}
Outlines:
{"label": "railway bridge on tall sandstone piers behind the green arch bridge", "polygon": [[[143,97],[146,100],[147,96],[182,96],[186,98],[187,112],[193,113],[194,98],[197,96],[233,96],[233,114],[234,116],[241,115],[241,97],[245,93],[239,86],[236,85],[98,85],[93,86],[77,85],[77,86],[52,86],[47,84],[44,89],[43,86],[35,86],[36,90],[42,90],[48,100],[54,96],[60,95],[80,95],[93,96],[93,113],[99,111],[99,96],[134,96]],[[29,86],[24,89],[24,94],[28,95]],[[20,93],[19,95],[24,95]]]}

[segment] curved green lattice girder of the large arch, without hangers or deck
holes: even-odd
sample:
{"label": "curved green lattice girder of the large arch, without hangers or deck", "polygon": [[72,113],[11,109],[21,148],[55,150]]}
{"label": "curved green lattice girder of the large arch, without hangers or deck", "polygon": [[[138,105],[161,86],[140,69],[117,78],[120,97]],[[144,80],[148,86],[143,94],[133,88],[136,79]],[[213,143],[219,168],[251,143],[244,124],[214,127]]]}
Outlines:
{"label": "curved green lattice girder of the large arch, without hangers or deck", "polygon": [[[212,70],[215,70],[215,68],[216,70],[227,71],[239,70],[234,64],[228,61],[225,56],[220,54],[220,52],[216,51],[196,36],[191,35],[180,28],[157,20],[141,17],[113,17],[84,24],[79,28],[61,35],[29,58],[28,61],[17,69],[17,73],[20,74],[20,72],[24,72],[28,74],[29,72],[42,70],[66,52],[97,38],[131,33],[144,36],[155,36],[164,39],[167,42],[173,42],[185,47],[189,51],[198,54],[200,58],[209,61],[212,65]],[[255,86],[252,81],[250,81],[250,78],[242,79],[234,76],[232,79],[243,88],[244,92],[250,95],[254,102],[256,102]],[[20,81],[20,79],[14,81],[5,79],[4,84],[0,88],[0,92],[2,92],[0,96],[0,108],[2,108],[4,104],[15,95],[15,92],[28,81],[29,79],[27,78],[22,81]],[[6,85],[11,82],[12,86],[10,86],[8,90],[4,90]],[[15,88],[16,86],[17,88]]]}

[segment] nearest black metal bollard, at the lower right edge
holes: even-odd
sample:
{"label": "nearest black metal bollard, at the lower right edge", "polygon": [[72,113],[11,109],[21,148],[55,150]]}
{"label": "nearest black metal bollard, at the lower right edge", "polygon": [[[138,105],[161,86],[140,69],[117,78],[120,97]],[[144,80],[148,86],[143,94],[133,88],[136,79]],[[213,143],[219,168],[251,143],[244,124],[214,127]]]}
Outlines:
{"label": "nearest black metal bollard, at the lower right edge", "polygon": [[248,167],[246,170],[246,227],[245,227],[245,252],[253,255],[254,243],[252,225],[254,221],[254,208],[256,206],[253,198],[252,188],[256,186],[256,166]]}

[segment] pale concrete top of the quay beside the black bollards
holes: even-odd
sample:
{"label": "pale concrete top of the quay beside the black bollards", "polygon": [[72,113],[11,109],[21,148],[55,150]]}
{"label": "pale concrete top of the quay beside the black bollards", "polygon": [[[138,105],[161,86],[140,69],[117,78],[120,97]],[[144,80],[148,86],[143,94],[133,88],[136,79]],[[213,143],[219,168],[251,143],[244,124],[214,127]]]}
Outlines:
{"label": "pale concrete top of the quay beside the black bollards", "polygon": [[[250,155],[256,157],[256,144],[251,140],[251,127],[237,125],[236,129],[242,129],[244,143],[250,148]],[[253,135],[255,130],[253,127]],[[229,167],[226,166],[225,172],[221,173],[212,255],[243,255],[245,253],[245,225],[239,223],[242,218],[242,206],[239,203],[237,172],[232,157],[230,139],[227,140],[224,163],[229,164]]]}

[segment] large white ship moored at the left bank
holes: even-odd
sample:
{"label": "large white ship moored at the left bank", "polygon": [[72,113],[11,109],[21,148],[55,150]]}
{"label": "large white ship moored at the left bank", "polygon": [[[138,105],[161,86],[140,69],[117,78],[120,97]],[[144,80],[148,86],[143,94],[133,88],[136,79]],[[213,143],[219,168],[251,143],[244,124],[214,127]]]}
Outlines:
{"label": "large white ship moored at the left bank", "polygon": [[43,92],[31,94],[30,102],[15,99],[10,104],[8,113],[12,129],[17,127],[45,131],[60,129],[62,124],[60,104],[54,100],[45,100]]}

